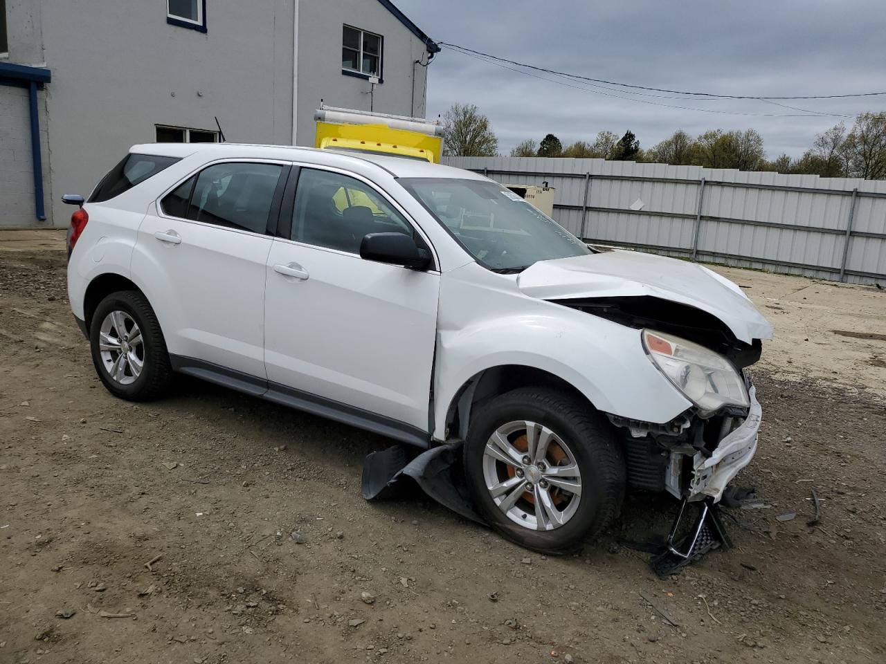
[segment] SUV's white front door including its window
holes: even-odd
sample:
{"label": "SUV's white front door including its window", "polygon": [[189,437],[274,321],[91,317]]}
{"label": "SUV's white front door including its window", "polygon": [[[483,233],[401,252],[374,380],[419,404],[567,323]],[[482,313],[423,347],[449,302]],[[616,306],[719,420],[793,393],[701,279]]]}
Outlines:
{"label": "SUV's white front door including its window", "polygon": [[393,437],[426,440],[439,273],[360,258],[363,235],[415,235],[414,228],[368,182],[305,167],[294,205],[281,212],[281,228],[289,226],[268,257],[271,392],[339,420],[369,421]]}

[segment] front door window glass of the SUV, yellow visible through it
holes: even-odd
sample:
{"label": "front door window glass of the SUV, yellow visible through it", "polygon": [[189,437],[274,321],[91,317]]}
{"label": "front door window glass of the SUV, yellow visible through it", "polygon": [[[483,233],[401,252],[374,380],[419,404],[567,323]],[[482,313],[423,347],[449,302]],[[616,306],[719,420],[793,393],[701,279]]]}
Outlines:
{"label": "front door window glass of the SUV, yellow visible through it", "polygon": [[413,235],[413,229],[369,185],[347,175],[301,169],[291,239],[360,253],[363,235],[369,233]]}

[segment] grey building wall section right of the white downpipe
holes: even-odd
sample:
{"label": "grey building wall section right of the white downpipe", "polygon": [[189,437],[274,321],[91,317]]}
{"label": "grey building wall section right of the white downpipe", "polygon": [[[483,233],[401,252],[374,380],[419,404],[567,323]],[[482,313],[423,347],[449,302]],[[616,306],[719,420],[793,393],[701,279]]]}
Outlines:
{"label": "grey building wall section right of the white downpipe", "polygon": [[[385,38],[383,81],[369,95],[369,81],[341,71],[342,26]],[[424,42],[378,2],[299,0],[299,145],[314,145],[314,112],[330,106],[424,117],[427,68]]]}

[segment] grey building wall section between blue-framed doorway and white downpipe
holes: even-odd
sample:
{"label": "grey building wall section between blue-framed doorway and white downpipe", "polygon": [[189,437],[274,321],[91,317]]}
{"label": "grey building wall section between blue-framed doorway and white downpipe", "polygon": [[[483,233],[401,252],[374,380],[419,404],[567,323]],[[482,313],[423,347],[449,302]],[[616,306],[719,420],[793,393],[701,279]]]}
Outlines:
{"label": "grey building wall section between blue-framed doorway and white downpipe", "polygon": [[214,129],[229,141],[289,143],[292,2],[213,0],[206,34],[167,24],[164,0],[43,0],[51,180],[89,195],[157,124]]}

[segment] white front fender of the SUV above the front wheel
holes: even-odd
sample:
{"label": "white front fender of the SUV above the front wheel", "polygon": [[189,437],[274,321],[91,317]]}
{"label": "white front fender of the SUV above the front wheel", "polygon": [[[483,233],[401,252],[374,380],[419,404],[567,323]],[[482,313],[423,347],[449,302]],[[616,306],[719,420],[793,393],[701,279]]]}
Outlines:
{"label": "white front fender of the SUV above the front wheel", "polygon": [[664,424],[692,404],[649,361],[640,330],[528,297],[476,263],[440,282],[433,437],[470,378],[502,365],[555,374],[604,413]]}

